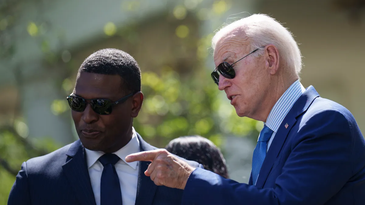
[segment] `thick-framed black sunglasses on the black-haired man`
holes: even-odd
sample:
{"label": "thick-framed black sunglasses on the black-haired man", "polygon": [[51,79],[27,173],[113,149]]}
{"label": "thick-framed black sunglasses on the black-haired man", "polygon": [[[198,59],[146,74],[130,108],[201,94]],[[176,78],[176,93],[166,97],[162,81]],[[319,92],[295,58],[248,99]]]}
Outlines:
{"label": "thick-framed black sunglasses on the black-haired man", "polygon": [[131,93],[115,102],[105,99],[85,99],[79,96],[70,95],[67,97],[67,101],[70,108],[76,112],[84,112],[87,106],[87,100],[90,101],[91,108],[99,115],[109,115],[112,113],[112,106],[125,102],[128,97],[131,97],[134,93]]}

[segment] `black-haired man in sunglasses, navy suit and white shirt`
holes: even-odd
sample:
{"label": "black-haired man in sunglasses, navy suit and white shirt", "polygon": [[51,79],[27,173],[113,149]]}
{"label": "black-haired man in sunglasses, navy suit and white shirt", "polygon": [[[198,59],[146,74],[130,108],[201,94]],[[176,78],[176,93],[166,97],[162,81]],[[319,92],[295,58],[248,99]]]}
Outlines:
{"label": "black-haired man in sunglasses, navy suit and white shirt", "polygon": [[93,53],[80,66],[67,100],[80,140],[24,162],[8,205],[181,204],[182,190],[157,186],[144,174],[150,162],[125,160],[157,149],[132,127],[143,102],[133,57],[117,49]]}

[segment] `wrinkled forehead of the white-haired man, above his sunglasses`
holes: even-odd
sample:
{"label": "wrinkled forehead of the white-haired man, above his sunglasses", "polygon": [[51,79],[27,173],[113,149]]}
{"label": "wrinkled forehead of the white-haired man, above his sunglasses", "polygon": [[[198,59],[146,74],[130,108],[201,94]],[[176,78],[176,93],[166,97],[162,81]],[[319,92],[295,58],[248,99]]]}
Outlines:
{"label": "wrinkled forehead of the white-haired man, above his sunglasses", "polygon": [[242,32],[230,32],[222,36],[214,49],[214,62],[233,61],[248,49],[248,38]]}

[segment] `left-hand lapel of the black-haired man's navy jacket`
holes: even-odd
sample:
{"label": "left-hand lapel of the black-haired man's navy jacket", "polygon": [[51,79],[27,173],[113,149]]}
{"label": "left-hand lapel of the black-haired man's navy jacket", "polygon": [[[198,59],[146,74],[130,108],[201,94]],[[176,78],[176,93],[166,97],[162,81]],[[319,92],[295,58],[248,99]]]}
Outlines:
{"label": "left-hand lapel of the black-haired man's navy jacket", "polygon": [[85,149],[80,140],[71,145],[66,155],[69,157],[62,168],[78,201],[82,205],[96,205],[85,160]]}

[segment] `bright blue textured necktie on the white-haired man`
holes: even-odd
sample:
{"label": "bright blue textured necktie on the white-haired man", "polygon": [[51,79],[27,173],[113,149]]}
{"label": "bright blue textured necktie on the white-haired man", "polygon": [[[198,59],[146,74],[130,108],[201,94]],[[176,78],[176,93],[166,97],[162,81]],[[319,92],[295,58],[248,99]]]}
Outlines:
{"label": "bright blue textured necktie on the white-haired man", "polygon": [[255,185],[257,181],[258,174],[262,163],[264,162],[266,156],[266,144],[268,143],[271,135],[274,131],[268,128],[266,125],[262,128],[260,132],[260,137],[258,138],[257,145],[253,151],[252,156],[252,184]]}

